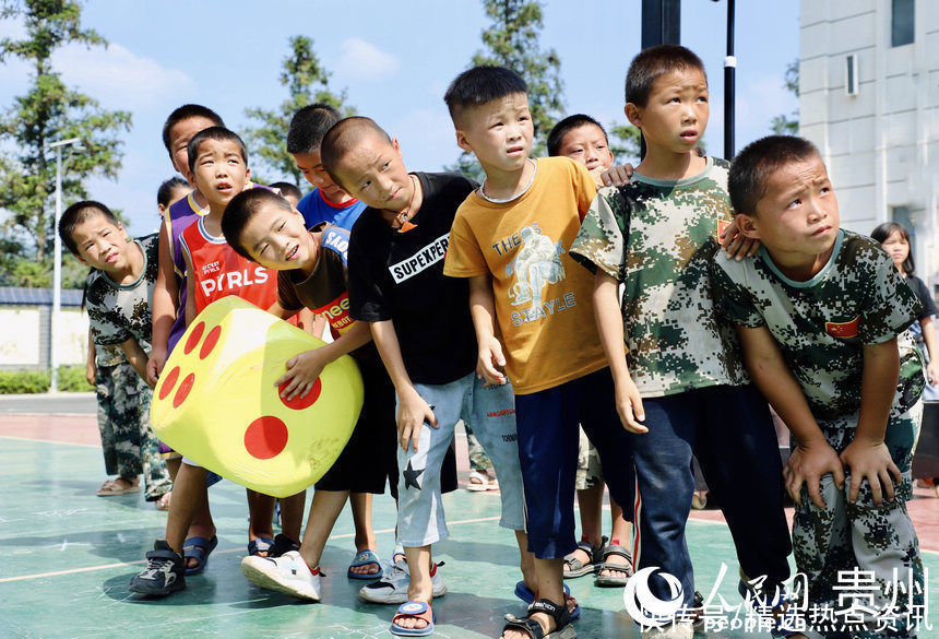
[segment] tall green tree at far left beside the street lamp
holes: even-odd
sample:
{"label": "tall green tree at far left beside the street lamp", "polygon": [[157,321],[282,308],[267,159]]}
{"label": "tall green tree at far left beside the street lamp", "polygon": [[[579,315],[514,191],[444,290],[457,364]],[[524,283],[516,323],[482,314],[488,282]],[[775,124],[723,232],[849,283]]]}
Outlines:
{"label": "tall green tree at far left beside the street lamp", "polygon": [[[51,271],[55,234],[56,159],[49,144],[80,138],[84,149],[62,153],[63,205],[87,198],[84,182],[92,176],[116,179],[121,167],[120,133],[130,130],[131,114],[102,109],[93,97],[64,85],[52,69],[54,51],[68,44],[107,47],[92,29],[82,29],[81,7],[74,0],[3,0],[0,19],[22,20],[23,39],[0,39],[0,62],[11,58],[31,67],[25,95],[0,115],[0,211],[4,248],[3,280],[17,284],[15,273],[35,273],[17,267],[28,260]],[[16,267],[15,269],[12,267]],[[32,281],[32,275],[23,282]]]}

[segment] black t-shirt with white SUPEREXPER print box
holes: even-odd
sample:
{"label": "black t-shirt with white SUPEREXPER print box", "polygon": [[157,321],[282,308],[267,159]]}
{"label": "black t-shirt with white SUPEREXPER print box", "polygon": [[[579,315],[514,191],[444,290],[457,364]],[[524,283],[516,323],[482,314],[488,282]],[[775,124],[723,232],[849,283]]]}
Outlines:
{"label": "black t-shirt with white SUPEREXPER print box", "polygon": [[455,173],[414,174],[424,201],[399,233],[368,208],[353,225],[348,276],[352,317],[392,320],[412,381],[450,383],[476,367],[476,333],[465,277],[443,275],[456,209],[474,182]]}

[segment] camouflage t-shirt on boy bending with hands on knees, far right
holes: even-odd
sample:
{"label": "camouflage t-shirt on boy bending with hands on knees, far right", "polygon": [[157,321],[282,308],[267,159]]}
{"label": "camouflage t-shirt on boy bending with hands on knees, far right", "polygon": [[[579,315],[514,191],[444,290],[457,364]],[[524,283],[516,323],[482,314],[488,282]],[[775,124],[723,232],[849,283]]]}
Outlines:
{"label": "camouflage t-shirt on boy bending with hands on knees, far right", "polygon": [[863,346],[894,336],[900,383],[893,405],[908,410],[923,392],[919,351],[905,329],[920,303],[878,242],[841,229],[832,257],[811,280],[786,277],[761,248],[741,262],[712,262],[717,311],[773,334],[817,419],[860,410]]}

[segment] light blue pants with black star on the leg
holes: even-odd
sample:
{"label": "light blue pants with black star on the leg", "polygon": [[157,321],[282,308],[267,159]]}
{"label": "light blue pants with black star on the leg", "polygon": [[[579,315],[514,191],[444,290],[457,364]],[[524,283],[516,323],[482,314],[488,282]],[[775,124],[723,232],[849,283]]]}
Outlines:
{"label": "light blue pants with black star on the leg", "polygon": [[449,535],[440,499],[440,470],[460,419],[472,426],[492,460],[502,494],[499,525],[523,530],[522,474],[512,387],[483,388],[483,380],[471,372],[450,383],[415,383],[414,388],[433,406],[438,427],[424,424],[416,451],[412,447],[406,452],[397,448],[397,543],[414,548]]}

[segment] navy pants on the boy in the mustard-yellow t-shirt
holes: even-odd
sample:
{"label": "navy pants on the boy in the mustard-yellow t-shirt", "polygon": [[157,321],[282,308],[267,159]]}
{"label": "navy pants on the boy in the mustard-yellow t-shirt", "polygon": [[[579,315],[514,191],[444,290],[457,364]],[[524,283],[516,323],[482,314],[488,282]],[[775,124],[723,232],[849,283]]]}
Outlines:
{"label": "navy pants on the boy in the mustard-yellow t-shirt", "polygon": [[554,388],[515,395],[525,530],[528,551],[538,559],[563,557],[577,547],[578,424],[599,453],[613,498],[625,510],[634,501],[631,440],[616,412],[613,388],[609,368],[604,368]]}

